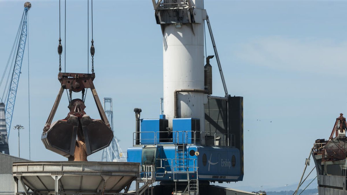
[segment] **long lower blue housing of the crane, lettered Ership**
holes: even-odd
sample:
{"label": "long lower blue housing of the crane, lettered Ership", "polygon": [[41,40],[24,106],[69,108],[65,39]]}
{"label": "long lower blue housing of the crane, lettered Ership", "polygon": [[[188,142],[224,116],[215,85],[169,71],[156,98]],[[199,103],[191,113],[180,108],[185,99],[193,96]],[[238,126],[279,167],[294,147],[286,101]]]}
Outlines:
{"label": "long lower blue housing of the crane, lettered Ership", "polygon": [[[175,158],[175,146],[142,146],[128,149],[128,162],[144,163],[146,149],[156,150],[155,179],[157,181],[199,179],[207,181],[241,181],[240,151],[236,148],[186,145],[185,157]],[[196,155],[196,152],[199,154]],[[193,154],[193,155],[192,155]],[[182,166],[180,163],[184,163]]]}

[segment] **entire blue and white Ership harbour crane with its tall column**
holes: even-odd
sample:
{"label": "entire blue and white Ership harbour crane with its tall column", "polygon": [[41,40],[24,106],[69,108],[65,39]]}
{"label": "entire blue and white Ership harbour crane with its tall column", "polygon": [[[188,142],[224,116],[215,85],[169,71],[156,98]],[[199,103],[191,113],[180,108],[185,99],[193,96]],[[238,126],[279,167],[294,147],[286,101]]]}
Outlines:
{"label": "entire blue and white Ership harbour crane with its tall column", "polygon": [[[163,38],[163,107],[141,119],[128,162],[152,165],[159,194],[210,194],[210,182],[243,180],[243,97],[229,95],[203,0],[152,0]],[[204,21],[225,96],[212,96],[212,66],[204,62]],[[204,66],[205,64],[205,66]],[[200,192],[199,192],[200,189]]]}

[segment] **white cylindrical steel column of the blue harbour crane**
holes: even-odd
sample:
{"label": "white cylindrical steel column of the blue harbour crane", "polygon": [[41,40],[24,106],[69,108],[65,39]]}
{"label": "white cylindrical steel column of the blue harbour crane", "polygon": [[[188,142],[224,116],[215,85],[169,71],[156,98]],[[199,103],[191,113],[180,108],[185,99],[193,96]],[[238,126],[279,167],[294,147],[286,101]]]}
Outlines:
{"label": "white cylindrical steel column of the blue harbour crane", "polygon": [[[203,9],[202,0],[193,0],[195,8]],[[201,14],[200,14],[201,15]],[[195,15],[202,20],[202,15]],[[197,19],[197,17],[201,17]],[[204,24],[164,24],[163,28],[163,86],[164,114],[172,129],[174,91],[177,89],[204,90]],[[192,30],[194,29],[194,32]],[[178,94],[178,117],[200,119],[204,131],[205,112],[202,93]]]}

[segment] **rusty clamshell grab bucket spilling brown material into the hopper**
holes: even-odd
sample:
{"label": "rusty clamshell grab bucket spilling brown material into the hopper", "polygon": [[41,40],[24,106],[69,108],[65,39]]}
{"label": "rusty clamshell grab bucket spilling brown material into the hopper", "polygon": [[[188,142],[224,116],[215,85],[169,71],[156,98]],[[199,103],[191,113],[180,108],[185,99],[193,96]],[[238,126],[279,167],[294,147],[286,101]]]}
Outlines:
{"label": "rusty clamshell grab bucket spilling brown material into the hopper", "polygon": [[[93,84],[94,77],[94,73],[59,73],[58,75],[61,88],[43,129],[41,140],[46,149],[67,157],[69,161],[87,161],[88,155],[108,147],[113,139],[113,132]],[[62,92],[66,88],[73,92],[90,88],[101,119],[90,118],[84,111],[83,100],[74,99],[69,103],[70,111],[67,117],[51,125]]]}

